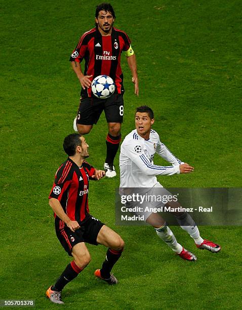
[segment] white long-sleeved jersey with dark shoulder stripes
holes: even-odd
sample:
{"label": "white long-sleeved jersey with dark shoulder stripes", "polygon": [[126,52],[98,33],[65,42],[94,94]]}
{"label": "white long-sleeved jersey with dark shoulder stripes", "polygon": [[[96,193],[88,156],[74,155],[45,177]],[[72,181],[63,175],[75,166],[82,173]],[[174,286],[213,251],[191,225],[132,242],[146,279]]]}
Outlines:
{"label": "white long-sleeved jersey with dark shoulder stripes", "polygon": [[[153,163],[154,154],[172,164],[172,166],[157,166]],[[180,173],[177,159],[165,144],[160,142],[159,135],[151,129],[149,139],[145,140],[133,130],[128,134],[120,149],[120,188],[153,187],[157,183],[156,175],[173,175]]]}

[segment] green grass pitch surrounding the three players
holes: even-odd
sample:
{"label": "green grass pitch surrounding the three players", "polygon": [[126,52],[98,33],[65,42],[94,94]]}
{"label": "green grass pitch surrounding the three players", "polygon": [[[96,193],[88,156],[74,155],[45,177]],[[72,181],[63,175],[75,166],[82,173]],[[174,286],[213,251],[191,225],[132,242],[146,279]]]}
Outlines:
{"label": "green grass pitch surrounding the three players", "polygon": [[[34,299],[37,309],[54,309],[57,305],[45,291],[69,258],[55,236],[48,195],[66,158],[62,141],[72,132],[78,107],[80,86],[69,55],[79,36],[94,25],[98,2],[0,3],[0,299]],[[137,98],[123,57],[123,137],[134,129],[135,107],[148,104],[162,141],[195,167],[191,175],[159,177],[160,183],[241,187],[241,1],[111,3],[115,26],[131,37],[140,80]],[[102,115],[86,137],[89,162],[99,169],[106,133]],[[164,163],[158,157],[154,162]],[[89,205],[126,242],[113,268],[120,283],[109,287],[93,276],[106,250],[88,246],[92,261],[64,289],[64,308],[241,308],[241,227],[199,227],[202,237],[221,244],[218,254],[199,251],[180,227],[173,227],[178,242],[198,258],[196,263],[183,261],[151,227],[115,226],[118,185],[118,177],[91,183]]]}

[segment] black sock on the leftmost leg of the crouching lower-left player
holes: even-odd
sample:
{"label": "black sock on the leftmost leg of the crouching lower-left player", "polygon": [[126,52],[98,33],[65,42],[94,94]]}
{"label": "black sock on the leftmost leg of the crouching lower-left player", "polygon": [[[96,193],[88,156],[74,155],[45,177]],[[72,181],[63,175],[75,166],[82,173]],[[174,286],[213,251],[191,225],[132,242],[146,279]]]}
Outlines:
{"label": "black sock on the leftmost leg of the crouching lower-left player", "polygon": [[74,261],[72,261],[70,264],[68,264],[61,274],[61,276],[57,279],[56,284],[52,286],[53,291],[61,292],[63,287],[75,279],[78,274],[83,269],[79,268]]}

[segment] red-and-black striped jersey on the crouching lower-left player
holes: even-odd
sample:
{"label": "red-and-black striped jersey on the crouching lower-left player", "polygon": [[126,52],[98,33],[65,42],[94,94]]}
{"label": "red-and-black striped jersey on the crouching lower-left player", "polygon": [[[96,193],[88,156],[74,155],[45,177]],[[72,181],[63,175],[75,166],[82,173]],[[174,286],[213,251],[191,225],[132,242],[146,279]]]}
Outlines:
{"label": "red-and-black striped jersey on the crouching lower-left player", "polygon": [[95,168],[87,162],[78,167],[68,158],[57,170],[49,195],[49,199],[58,199],[67,216],[79,224],[89,214],[89,177],[94,175],[94,172]]}

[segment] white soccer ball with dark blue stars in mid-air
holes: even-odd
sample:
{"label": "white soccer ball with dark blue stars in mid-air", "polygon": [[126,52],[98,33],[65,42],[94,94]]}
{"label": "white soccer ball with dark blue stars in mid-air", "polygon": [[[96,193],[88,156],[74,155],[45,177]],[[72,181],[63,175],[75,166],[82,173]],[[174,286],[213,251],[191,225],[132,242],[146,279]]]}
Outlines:
{"label": "white soccer ball with dark blue stars in mid-air", "polygon": [[107,99],[115,90],[115,84],[110,76],[98,75],[92,83],[92,92],[94,96],[100,99]]}

